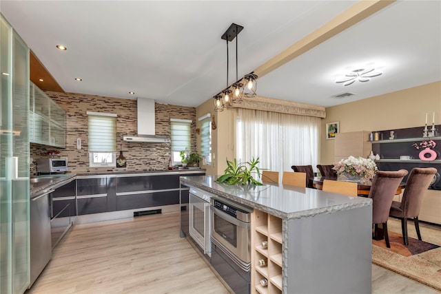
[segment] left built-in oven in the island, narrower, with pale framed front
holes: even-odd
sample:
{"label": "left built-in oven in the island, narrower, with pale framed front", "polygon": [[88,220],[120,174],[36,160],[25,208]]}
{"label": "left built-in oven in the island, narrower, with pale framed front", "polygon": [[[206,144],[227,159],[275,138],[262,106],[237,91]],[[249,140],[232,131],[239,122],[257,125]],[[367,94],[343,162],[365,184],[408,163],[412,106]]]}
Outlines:
{"label": "left built-in oven in the island, narrower, with pale framed front", "polygon": [[210,241],[210,193],[201,189],[189,189],[189,235],[201,247],[201,251],[211,256]]}

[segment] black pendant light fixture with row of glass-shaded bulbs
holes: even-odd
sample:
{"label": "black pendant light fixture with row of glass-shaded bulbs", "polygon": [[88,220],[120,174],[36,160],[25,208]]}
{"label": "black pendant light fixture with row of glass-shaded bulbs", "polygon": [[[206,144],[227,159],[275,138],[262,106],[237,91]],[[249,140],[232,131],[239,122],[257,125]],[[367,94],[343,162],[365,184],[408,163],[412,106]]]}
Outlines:
{"label": "black pendant light fixture with row of glass-shaded bulbs", "polygon": [[223,109],[232,107],[234,103],[242,103],[243,97],[255,97],[257,88],[257,75],[253,72],[246,74],[243,78],[238,80],[238,39],[236,39],[236,82],[232,85],[228,83],[228,70],[229,70],[229,58],[228,58],[228,42],[231,42],[238,36],[240,31],[243,30],[242,25],[236,25],[232,23],[225,33],[221,36],[221,39],[227,41],[227,87],[220,93],[213,97],[214,111],[222,112]]}

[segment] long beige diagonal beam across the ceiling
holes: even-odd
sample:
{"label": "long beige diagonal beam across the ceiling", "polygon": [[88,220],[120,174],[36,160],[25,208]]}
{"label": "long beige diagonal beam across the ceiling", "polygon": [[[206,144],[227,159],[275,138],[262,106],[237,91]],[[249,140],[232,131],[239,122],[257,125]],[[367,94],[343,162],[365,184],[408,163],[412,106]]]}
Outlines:
{"label": "long beige diagonal beam across the ceiling", "polygon": [[295,59],[300,54],[303,54],[311,48],[316,47],[316,45],[330,39],[359,21],[370,17],[372,14],[382,10],[382,8],[389,6],[395,1],[396,0],[376,0],[360,1],[356,3],[354,6],[345,12],[342,12],[342,14],[338,15],[325,25],[322,25],[322,27],[305,36],[305,38],[294,43],[294,45],[291,45],[283,52],[280,52],[273,58],[269,59],[269,61],[263,63],[263,65],[257,67],[256,70],[254,70],[254,74],[257,74],[259,78],[265,76],[265,74],[276,70],[276,68],[284,65],[292,59]]}

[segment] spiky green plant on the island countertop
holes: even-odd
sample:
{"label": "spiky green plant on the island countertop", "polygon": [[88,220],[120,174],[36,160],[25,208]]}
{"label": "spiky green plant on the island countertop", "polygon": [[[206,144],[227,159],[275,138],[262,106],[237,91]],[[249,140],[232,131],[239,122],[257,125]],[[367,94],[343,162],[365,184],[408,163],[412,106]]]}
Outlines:
{"label": "spiky green plant on the island countertop", "polygon": [[252,174],[257,174],[260,178],[260,169],[257,166],[259,158],[253,158],[248,162],[237,162],[236,158],[229,161],[227,158],[227,168],[223,176],[220,176],[216,182],[225,182],[229,185],[263,185],[261,182],[253,178]]}

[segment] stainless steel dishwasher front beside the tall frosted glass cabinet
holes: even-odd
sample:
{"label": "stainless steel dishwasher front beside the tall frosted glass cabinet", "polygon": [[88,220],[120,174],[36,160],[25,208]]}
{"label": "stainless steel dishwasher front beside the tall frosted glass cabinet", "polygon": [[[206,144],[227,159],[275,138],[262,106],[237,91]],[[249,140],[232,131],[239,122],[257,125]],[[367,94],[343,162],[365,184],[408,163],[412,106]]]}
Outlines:
{"label": "stainless steel dishwasher front beside the tall frosted glass cabinet", "polygon": [[50,193],[43,191],[30,199],[30,284],[34,284],[52,256]]}

